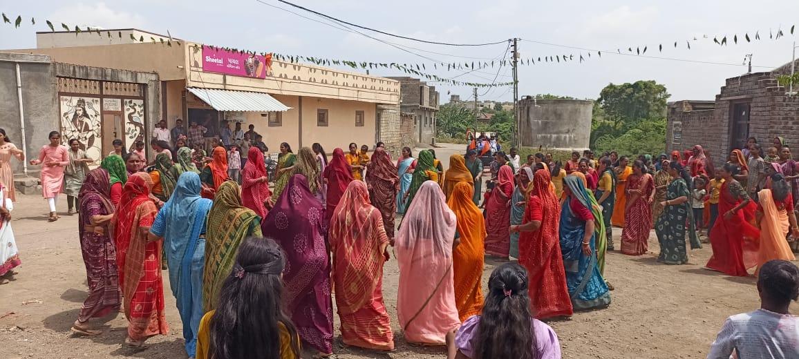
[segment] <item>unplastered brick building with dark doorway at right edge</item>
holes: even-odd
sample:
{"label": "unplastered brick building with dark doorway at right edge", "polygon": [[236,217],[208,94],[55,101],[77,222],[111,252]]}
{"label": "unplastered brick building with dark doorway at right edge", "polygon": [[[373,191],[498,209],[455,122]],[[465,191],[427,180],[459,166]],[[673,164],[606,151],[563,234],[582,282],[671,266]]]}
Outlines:
{"label": "unplastered brick building with dark doorway at right edge", "polygon": [[[797,61],[799,63],[799,61]],[[774,136],[799,139],[799,97],[777,85],[790,63],[765,73],[728,78],[715,101],[676,101],[667,112],[666,148],[681,151],[701,144],[715,164],[723,164],[747,138],[769,147]]]}

